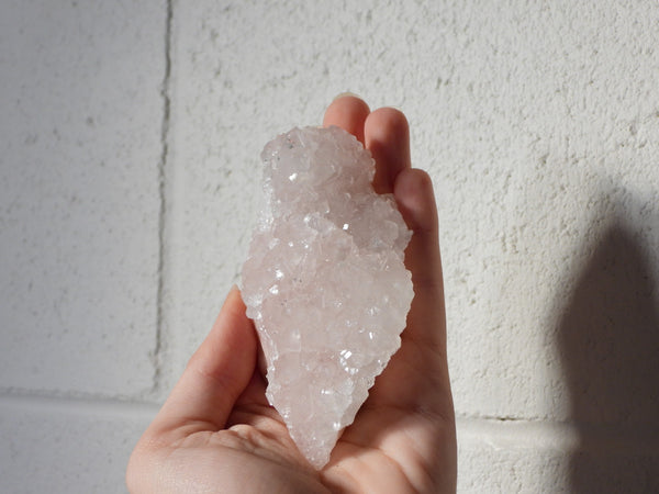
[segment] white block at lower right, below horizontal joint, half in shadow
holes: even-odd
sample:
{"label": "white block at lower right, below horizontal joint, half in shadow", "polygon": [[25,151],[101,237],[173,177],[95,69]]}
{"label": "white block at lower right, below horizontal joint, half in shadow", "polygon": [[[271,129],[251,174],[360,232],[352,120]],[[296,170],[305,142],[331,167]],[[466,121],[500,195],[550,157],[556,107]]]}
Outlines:
{"label": "white block at lower right, below horizontal joint, half in shadow", "polygon": [[459,493],[656,492],[659,436],[550,422],[458,420]]}

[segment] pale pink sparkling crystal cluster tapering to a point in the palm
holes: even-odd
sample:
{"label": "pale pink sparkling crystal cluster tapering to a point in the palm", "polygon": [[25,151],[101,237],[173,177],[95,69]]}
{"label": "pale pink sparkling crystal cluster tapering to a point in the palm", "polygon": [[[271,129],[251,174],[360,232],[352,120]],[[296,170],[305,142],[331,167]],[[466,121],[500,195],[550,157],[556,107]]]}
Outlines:
{"label": "pale pink sparkling crystal cluster tapering to a point in the palm", "polygon": [[400,347],[413,297],[411,232],[375,161],[338,127],[293,128],[266,145],[265,207],[243,299],[267,364],[267,397],[315,467],[330,459]]}

